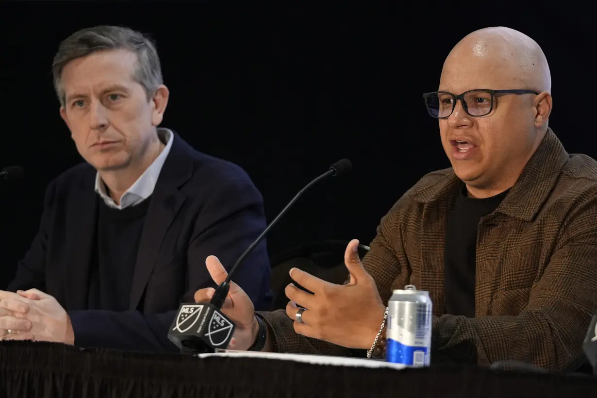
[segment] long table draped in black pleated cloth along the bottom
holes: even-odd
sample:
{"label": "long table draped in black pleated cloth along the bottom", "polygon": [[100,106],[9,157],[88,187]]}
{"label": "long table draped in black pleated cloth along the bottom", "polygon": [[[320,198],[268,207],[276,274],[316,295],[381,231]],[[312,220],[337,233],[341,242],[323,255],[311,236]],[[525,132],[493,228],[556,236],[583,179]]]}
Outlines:
{"label": "long table draped in black pleated cloth along the bottom", "polygon": [[402,368],[364,359],[221,353],[201,357],[0,343],[0,398],[590,397],[597,378]]}

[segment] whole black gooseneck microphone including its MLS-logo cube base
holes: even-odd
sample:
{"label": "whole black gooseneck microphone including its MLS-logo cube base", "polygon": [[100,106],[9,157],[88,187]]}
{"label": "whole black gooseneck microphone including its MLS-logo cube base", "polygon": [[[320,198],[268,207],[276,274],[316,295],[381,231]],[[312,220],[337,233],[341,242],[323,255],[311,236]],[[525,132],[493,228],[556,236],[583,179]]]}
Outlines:
{"label": "whole black gooseneck microphone including its MLS-logo cube base", "polygon": [[348,159],[341,159],[331,165],[330,169],[324,174],[319,175],[298,191],[294,198],[276,215],[276,218],[272,220],[269,226],[236,260],[226,280],[220,283],[209,303],[180,304],[179,311],[170,326],[170,331],[168,331],[168,339],[176,344],[181,352],[203,354],[215,352],[217,348],[226,349],[228,347],[236,325],[220,309],[224,305],[224,300],[226,300],[230,290],[230,280],[232,280],[234,271],[303,193],[324,178],[330,176],[341,177],[350,172],[350,169],[352,169],[352,163]]}

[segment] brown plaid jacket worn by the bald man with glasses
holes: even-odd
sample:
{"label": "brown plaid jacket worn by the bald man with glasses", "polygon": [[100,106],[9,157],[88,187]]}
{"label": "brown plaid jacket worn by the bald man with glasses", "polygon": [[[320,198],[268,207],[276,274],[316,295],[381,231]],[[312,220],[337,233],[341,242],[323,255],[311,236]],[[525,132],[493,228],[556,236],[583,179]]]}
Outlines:
{"label": "brown plaid jacket worn by the bald man with glasses", "polygon": [[[382,218],[363,259],[381,299],[408,284],[429,291],[434,362],[578,368],[597,308],[597,162],[568,155],[547,131],[506,198],[479,223],[472,319],[444,314],[446,220],[460,184],[451,168],[427,174]],[[261,315],[279,352],[350,355],[294,333],[284,310]]]}

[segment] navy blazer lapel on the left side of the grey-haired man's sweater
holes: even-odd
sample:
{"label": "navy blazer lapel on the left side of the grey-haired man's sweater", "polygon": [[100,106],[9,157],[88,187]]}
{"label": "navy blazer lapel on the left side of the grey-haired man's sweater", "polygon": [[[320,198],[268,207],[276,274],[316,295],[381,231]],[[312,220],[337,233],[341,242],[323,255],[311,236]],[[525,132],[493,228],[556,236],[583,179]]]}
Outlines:
{"label": "navy blazer lapel on the left side of the grey-haired man's sweater", "polygon": [[[87,176],[86,176],[87,177]],[[89,294],[89,271],[94,255],[97,205],[99,197],[93,189],[93,174],[78,187],[67,210],[66,230],[66,310],[86,309]]]}

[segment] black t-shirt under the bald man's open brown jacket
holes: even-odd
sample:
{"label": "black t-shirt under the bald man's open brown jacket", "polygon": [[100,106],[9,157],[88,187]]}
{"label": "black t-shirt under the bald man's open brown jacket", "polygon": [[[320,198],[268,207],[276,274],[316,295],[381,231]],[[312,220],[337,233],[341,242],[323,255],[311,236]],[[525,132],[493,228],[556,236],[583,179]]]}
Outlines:
{"label": "black t-shirt under the bald man's open brown jacket", "polygon": [[467,196],[466,186],[448,214],[444,249],[445,313],[475,317],[475,260],[479,220],[491,214],[508,191],[485,199]]}

